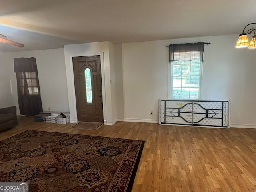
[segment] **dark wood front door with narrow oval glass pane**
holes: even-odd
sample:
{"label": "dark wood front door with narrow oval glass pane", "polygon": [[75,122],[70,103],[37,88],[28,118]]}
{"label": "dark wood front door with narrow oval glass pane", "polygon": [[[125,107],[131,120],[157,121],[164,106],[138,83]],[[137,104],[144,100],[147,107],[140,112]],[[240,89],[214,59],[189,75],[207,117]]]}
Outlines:
{"label": "dark wood front door with narrow oval glass pane", "polygon": [[78,121],[103,122],[100,56],[73,57]]}

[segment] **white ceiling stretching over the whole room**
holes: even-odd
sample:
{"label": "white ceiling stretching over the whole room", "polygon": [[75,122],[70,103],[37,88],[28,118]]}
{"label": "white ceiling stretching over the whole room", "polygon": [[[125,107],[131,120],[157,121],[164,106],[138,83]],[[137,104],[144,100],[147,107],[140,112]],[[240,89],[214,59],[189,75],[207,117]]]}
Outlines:
{"label": "white ceiling stretching over the whole room", "polygon": [[240,34],[251,22],[256,0],[0,0],[0,34],[24,44],[0,51]]}

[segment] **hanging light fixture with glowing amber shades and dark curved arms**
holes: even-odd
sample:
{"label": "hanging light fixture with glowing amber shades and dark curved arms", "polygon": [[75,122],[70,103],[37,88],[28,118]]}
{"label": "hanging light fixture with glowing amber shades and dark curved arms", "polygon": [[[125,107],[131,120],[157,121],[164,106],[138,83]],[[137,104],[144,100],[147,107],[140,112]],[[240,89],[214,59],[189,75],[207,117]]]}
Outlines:
{"label": "hanging light fixture with glowing amber shades and dark curved arms", "polygon": [[[245,28],[247,26],[249,26],[251,24],[255,24],[256,25],[256,23],[250,23],[250,24],[248,24],[248,25],[246,25],[244,27],[244,30],[245,30]],[[236,43],[236,48],[248,47],[249,49],[255,49],[256,48],[256,29],[250,28],[247,31],[248,34],[251,34],[252,32],[254,33],[254,35],[252,36],[252,40],[251,40],[250,44],[249,44],[249,40],[248,40],[247,34],[244,32],[244,30],[239,35],[238,41]]]}

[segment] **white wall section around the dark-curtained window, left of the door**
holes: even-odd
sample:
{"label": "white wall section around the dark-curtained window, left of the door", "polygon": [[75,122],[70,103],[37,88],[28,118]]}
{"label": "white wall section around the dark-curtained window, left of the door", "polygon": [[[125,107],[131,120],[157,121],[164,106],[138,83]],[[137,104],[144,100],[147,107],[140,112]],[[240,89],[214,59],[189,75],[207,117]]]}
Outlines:
{"label": "white wall section around the dark-curtained window, left of the door", "polygon": [[[50,107],[52,111],[67,112],[69,109],[64,49],[5,53],[0,62],[4,68],[1,70],[4,73],[0,76],[1,93],[4,93],[4,98],[0,98],[1,106],[4,103],[6,106],[16,105],[18,108],[17,81],[13,68],[14,58],[21,57],[36,58],[43,110]],[[8,102],[4,102],[5,100]],[[17,111],[19,114],[19,108]]]}

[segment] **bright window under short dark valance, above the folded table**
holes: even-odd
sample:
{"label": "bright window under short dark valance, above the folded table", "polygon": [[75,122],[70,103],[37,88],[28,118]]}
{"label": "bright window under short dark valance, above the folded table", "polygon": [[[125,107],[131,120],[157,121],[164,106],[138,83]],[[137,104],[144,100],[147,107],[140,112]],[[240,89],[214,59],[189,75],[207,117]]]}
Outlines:
{"label": "bright window under short dark valance, above the folded table", "polygon": [[204,42],[169,45],[171,98],[199,99]]}

